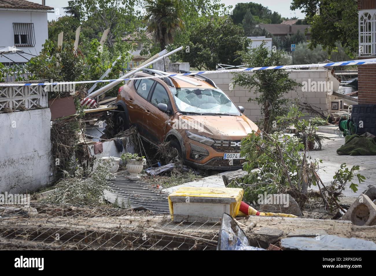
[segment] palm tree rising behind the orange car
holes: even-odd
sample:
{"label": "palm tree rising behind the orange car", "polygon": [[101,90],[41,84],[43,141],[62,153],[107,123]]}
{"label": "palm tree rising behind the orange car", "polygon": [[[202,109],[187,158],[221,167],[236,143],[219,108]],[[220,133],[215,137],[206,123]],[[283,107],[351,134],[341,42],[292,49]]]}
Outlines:
{"label": "palm tree rising behind the orange car", "polygon": [[173,41],[174,33],[183,29],[181,0],[145,0],[145,21],[147,30],[154,33],[154,40],[161,44],[161,50]]}

